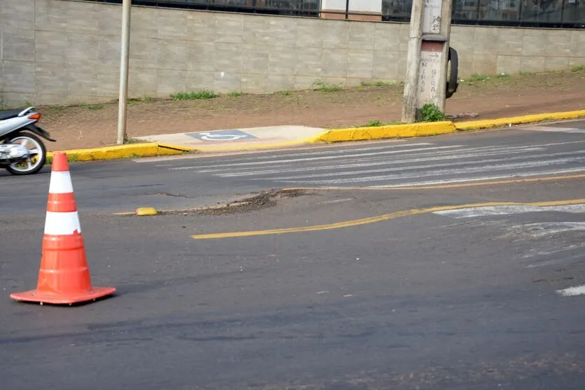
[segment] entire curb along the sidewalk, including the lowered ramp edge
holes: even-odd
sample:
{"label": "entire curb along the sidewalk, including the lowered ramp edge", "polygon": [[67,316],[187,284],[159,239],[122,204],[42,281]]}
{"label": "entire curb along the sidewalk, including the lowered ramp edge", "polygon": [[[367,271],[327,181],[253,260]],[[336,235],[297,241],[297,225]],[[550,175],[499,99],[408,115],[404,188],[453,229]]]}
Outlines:
{"label": "entire curb along the sidewalk, including the lowered ramp edge", "polygon": [[[429,137],[440,134],[464,132],[469,130],[490,129],[510,125],[526,123],[537,123],[544,120],[565,120],[585,117],[585,110],[565,111],[557,113],[542,113],[527,116],[514,116],[510,118],[498,118],[488,120],[470,120],[467,122],[453,123],[445,120],[441,122],[423,122],[403,125],[386,125],[380,127],[347,127],[333,130],[326,130],[322,134],[308,139],[289,141],[280,144],[258,144],[249,147],[218,147],[218,148],[188,148],[170,144],[159,144],[158,142],[132,144],[121,146],[107,146],[105,148],[74,149],[64,151],[69,161],[96,161],[96,160],[117,160],[123,158],[156,157],[160,155],[181,155],[184,153],[205,152],[205,151],[240,151],[240,150],[261,150],[266,148],[279,148],[301,144],[319,144],[347,141],[369,141],[374,139],[412,138]],[[53,158],[53,152],[47,153],[47,160]]]}

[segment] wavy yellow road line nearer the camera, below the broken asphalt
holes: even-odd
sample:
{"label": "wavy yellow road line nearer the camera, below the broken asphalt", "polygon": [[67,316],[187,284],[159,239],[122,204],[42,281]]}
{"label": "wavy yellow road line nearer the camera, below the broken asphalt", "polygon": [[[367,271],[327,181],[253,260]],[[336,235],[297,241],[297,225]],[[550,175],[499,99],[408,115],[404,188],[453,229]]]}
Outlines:
{"label": "wavy yellow road line nearer the camera, below the broken asphalt", "polygon": [[301,226],[300,228],[283,228],[283,229],[272,229],[272,230],[252,230],[249,232],[230,232],[230,233],[209,233],[205,235],[193,235],[193,239],[219,239],[219,238],[233,238],[233,237],[249,237],[259,235],[281,235],[284,233],[298,233],[298,232],[315,232],[317,230],[333,230],[340,228],[350,228],[358,225],[366,225],[368,223],[376,223],[381,221],[389,221],[390,219],[399,218],[401,216],[412,216],[416,214],[432,213],[434,211],[446,211],[456,209],[466,209],[468,207],[490,207],[490,206],[511,206],[511,205],[522,205],[522,206],[565,206],[567,204],[580,204],[585,203],[585,199],[572,199],[572,200],[556,200],[551,202],[533,202],[533,203],[521,203],[521,202],[486,202],[486,203],[471,203],[471,204],[458,204],[453,206],[441,206],[441,207],[429,207],[427,209],[411,209],[405,211],[397,211],[390,214],[382,214],[380,216],[372,216],[369,218],[354,219],[352,221],[343,221],[337,223],[329,223],[327,225],[312,225],[312,226]]}

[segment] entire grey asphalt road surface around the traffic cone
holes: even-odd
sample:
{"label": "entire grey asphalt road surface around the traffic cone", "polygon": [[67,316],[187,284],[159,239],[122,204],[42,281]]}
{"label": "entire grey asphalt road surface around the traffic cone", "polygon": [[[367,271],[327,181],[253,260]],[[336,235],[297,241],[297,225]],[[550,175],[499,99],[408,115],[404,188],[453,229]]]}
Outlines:
{"label": "entire grey asphalt road surface around the traffic cone", "polygon": [[[79,307],[8,298],[36,284],[48,175],[2,177],[26,195],[2,193],[1,388],[582,389],[585,296],[566,295],[585,284],[584,143],[507,130],[73,164],[93,283],[118,288]],[[107,214],[283,186],[345,188]]]}

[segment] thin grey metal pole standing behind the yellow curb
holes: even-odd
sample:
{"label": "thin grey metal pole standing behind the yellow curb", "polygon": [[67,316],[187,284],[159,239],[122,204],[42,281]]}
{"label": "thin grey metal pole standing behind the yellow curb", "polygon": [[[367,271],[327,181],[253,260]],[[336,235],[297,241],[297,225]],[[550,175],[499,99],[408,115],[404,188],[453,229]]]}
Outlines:
{"label": "thin grey metal pole standing behind the yellow curb", "polygon": [[118,101],[118,145],[124,144],[126,137],[126,112],[128,108],[128,62],[130,58],[130,4],[122,3],[122,50],[120,58],[120,97]]}

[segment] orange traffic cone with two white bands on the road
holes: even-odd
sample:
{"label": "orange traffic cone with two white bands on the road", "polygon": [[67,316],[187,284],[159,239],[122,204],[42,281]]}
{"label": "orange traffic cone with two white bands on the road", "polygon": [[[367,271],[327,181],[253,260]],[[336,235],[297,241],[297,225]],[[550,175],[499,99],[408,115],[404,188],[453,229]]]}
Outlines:
{"label": "orange traffic cone with two white bands on the road", "polygon": [[11,298],[41,305],[43,302],[71,305],[102,298],[115,291],[113,287],[91,285],[67,154],[55,152],[39,281],[36,290],[13,293]]}

